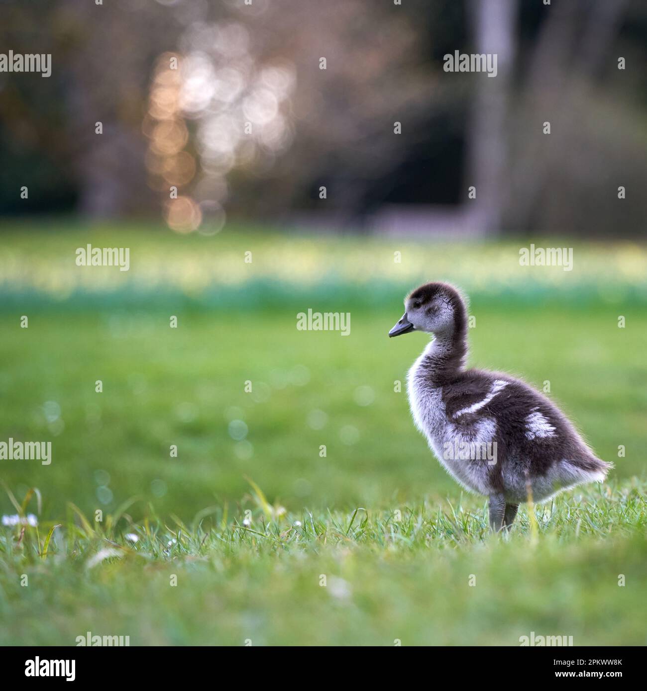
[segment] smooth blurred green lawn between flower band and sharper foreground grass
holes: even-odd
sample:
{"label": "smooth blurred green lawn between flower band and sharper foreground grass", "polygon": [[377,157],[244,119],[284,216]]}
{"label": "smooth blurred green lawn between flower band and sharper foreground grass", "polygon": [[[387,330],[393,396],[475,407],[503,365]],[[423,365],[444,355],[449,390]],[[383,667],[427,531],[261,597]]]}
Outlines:
{"label": "smooth blurred green lawn between flower band and sharper foreground grass", "polygon": [[[143,495],[162,515],[190,520],[237,500],[245,475],[291,510],[456,495],[411,422],[404,380],[425,338],[386,337],[400,316],[396,298],[392,310],[351,309],[349,337],[298,332],[294,310],[192,312],[178,329],[159,312],[35,314],[28,329],[0,316],[0,358],[12,363],[0,377],[0,439],[51,439],[53,456],[49,466],[0,461],[0,477],[20,495],[41,487],[54,517],[69,500],[91,513]],[[472,307],[473,364],[549,381],[615,475],[641,474],[644,324],[618,329],[610,310]],[[372,402],[360,405],[366,387]],[[47,401],[60,408],[52,422]],[[243,446],[230,418],[248,427]]]}

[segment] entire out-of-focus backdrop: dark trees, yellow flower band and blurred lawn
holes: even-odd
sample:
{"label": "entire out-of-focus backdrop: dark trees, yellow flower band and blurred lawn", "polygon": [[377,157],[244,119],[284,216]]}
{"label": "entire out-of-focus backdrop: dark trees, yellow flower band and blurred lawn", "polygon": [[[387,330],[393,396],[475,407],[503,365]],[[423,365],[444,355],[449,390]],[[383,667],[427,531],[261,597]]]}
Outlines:
{"label": "entire out-of-focus backdrop: dark trees, yellow flower band and blurred lawn", "polygon": [[[0,12],[4,52],[52,55],[51,77],[0,73],[0,439],[53,441],[51,466],[0,462],[17,494],[189,518],[246,477],[292,509],[457,495],[397,390],[423,338],[386,337],[437,279],[471,297],[472,363],[548,381],[642,473],[644,3]],[[455,50],[497,76],[445,72]],[[78,267],[86,243],[129,271]],[[573,270],[520,266],[529,243]],[[350,336],[296,330],[309,308]]]}

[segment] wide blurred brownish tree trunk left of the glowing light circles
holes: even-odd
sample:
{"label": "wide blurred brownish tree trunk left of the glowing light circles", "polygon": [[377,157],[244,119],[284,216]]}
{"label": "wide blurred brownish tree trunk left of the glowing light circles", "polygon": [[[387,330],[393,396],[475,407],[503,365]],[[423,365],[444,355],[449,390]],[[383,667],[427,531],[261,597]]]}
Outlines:
{"label": "wide blurred brownish tree trunk left of the glowing light circles", "polygon": [[152,58],[158,46],[173,45],[179,28],[155,6],[125,0],[103,6],[67,0],[56,19],[66,46],[65,126],[79,213],[114,218],[155,209],[141,122]]}

